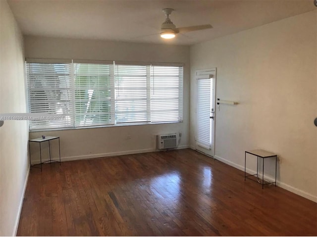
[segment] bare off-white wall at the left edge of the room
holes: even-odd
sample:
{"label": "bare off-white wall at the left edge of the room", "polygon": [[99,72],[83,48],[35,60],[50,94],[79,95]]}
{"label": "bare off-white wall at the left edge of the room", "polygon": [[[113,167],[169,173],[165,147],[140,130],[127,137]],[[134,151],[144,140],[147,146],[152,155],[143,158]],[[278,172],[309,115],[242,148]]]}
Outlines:
{"label": "bare off-white wall at the left edge of the room", "polygon": [[[23,38],[6,1],[0,1],[0,113],[26,112]],[[28,177],[26,121],[0,128],[0,236],[16,234]]]}

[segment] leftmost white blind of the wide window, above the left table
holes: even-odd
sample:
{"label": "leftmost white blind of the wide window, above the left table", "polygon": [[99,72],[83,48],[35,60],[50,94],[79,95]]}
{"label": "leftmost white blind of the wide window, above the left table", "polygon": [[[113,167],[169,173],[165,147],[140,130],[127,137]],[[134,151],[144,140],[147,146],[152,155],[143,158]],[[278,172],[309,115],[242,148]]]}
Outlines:
{"label": "leftmost white blind of the wide window, above the left table", "polygon": [[71,64],[27,63],[26,70],[29,111],[64,117],[63,120],[31,120],[30,130],[72,127]]}

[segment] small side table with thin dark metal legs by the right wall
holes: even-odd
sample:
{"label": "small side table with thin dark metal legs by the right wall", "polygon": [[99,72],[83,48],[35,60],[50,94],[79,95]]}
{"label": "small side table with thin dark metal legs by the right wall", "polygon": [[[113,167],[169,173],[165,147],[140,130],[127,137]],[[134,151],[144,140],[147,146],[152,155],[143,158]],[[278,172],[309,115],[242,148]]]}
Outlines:
{"label": "small side table with thin dark metal legs by the right wall", "polygon": [[[257,156],[257,173],[254,174],[254,175],[247,175],[246,173],[246,161],[247,161],[247,153],[248,154],[251,154],[251,155],[255,155]],[[275,184],[276,186],[276,164],[277,164],[277,155],[274,154],[274,153],[271,153],[271,152],[268,152],[268,151],[265,151],[265,150],[260,150],[260,149],[257,149],[257,150],[246,150],[245,153],[244,153],[244,180],[246,180],[247,177],[250,177],[250,176],[257,176],[258,178],[258,173],[259,173],[259,168],[258,168],[258,165],[259,165],[259,157],[262,158],[263,160],[263,170],[262,170],[262,189],[263,189],[263,186],[264,185],[269,185],[269,184]],[[275,157],[275,182],[269,182],[269,183],[266,183],[264,184],[264,159],[265,158],[270,158],[270,157]]]}

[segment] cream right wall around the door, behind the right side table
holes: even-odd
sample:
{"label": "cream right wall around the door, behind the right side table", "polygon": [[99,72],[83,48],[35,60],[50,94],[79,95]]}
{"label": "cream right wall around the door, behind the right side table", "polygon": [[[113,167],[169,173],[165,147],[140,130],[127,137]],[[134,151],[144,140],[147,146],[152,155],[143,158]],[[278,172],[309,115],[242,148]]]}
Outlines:
{"label": "cream right wall around the door, behind the right side table", "polygon": [[[190,58],[191,146],[195,146],[195,70],[216,67],[216,97],[239,102],[221,105],[216,111],[216,159],[244,169],[245,150],[275,152],[279,157],[278,185],[314,201],[316,25],[315,10],[194,45]],[[275,162],[265,162],[268,169],[274,170]],[[248,168],[256,170],[256,166]]]}

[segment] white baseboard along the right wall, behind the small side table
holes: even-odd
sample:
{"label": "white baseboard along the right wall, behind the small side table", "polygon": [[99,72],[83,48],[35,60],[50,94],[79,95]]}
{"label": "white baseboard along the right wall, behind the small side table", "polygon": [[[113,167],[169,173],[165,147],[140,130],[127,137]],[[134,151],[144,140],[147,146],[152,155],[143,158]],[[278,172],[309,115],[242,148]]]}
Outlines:
{"label": "white baseboard along the right wall, behind the small side table", "polygon": [[[227,165],[233,166],[234,168],[237,168],[238,170],[244,171],[244,166],[242,166],[242,165],[238,165],[238,164],[236,164],[236,163],[234,163],[234,162],[232,162],[232,161],[229,161],[229,160],[224,159],[224,158],[222,158],[222,157],[220,157],[220,156],[217,156],[217,155],[215,155],[214,158],[215,158],[216,160],[219,160],[219,161],[221,161],[221,162],[227,164]],[[251,169],[246,169],[246,171],[247,171],[249,174],[256,174],[256,173],[257,173],[256,171],[251,170]],[[270,182],[274,182],[274,181],[275,181],[275,177],[273,178],[273,177],[271,177],[271,176],[266,176],[266,175],[264,175],[264,179],[269,180]],[[315,195],[313,195],[313,194],[311,194],[311,193],[308,193],[308,192],[306,192],[306,191],[297,189],[297,188],[295,188],[295,187],[293,187],[293,186],[290,186],[290,185],[285,184],[285,183],[283,183],[283,182],[280,182],[280,181],[278,181],[278,180],[276,180],[276,186],[281,187],[281,188],[283,188],[283,189],[285,189],[285,190],[294,192],[294,193],[296,193],[296,194],[298,194],[298,195],[300,195],[300,196],[302,196],[302,197],[305,197],[305,198],[307,198],[307,199],[310,199],[310,200],[312,200],[312,201],[314,201],[314,202],[317,202],[317,196],[315,196]]]}

